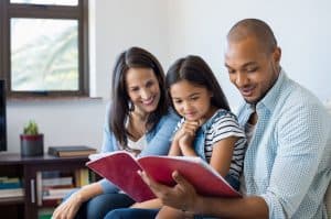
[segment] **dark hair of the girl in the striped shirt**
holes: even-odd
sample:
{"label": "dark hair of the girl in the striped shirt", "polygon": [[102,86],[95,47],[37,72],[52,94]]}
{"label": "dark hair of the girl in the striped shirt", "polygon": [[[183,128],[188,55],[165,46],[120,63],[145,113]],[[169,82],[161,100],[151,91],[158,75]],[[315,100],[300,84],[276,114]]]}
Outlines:
{"label": "dark hair of the girl in the striped shirt", "polygon": [[227,99],[215,75],[200,56],[189,55],[175,61],[174,64],[170,66],[166,77],[168,91],[173,84],[180,80],[188,80],[197,86],[205,87],[213,94],[211,99],[212,105],[216,108],[229,111]]}

